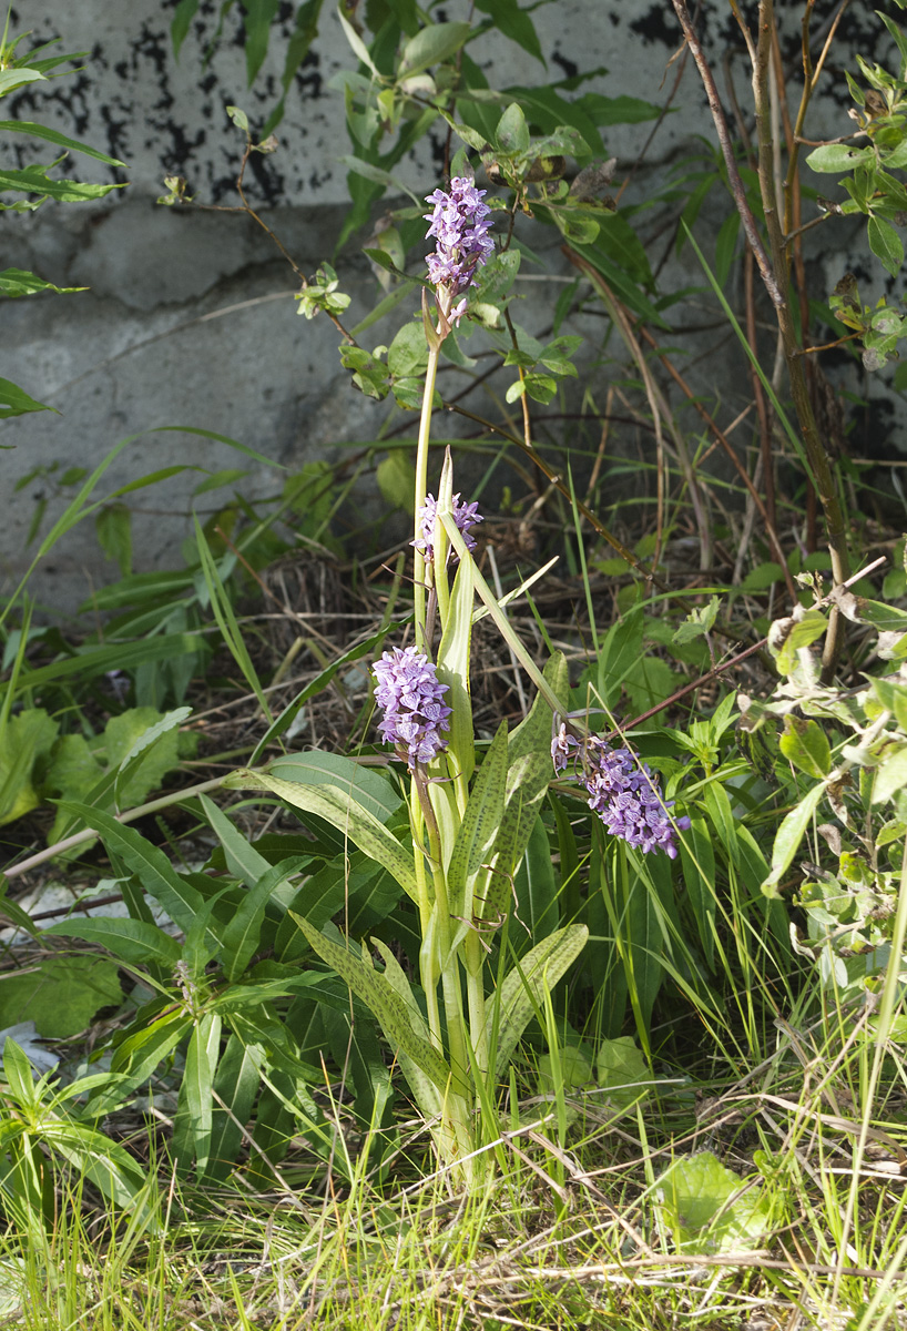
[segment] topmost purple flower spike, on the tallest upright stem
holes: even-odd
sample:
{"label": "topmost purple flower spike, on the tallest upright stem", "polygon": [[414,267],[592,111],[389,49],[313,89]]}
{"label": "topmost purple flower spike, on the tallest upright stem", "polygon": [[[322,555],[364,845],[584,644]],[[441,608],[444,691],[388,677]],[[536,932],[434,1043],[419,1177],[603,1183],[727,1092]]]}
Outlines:
{"label": "topmost purple flower spike, on the tallest upright stem", "polygon": [[484,189],[476,189],[468,176],[455,176],[451,192],[436,189],[426,196],[427,204],[434,204],[434,213],[426,213],[431,226],[426,236],[438,241],[435,253],[427,257],[430,281],[447,293],[451,306],[448,318],[459,323],[465,314],[465,299],[454,305],[472,285],[476,269],[488,262],[495,242],[488,234],[491,209],[483,204]]}

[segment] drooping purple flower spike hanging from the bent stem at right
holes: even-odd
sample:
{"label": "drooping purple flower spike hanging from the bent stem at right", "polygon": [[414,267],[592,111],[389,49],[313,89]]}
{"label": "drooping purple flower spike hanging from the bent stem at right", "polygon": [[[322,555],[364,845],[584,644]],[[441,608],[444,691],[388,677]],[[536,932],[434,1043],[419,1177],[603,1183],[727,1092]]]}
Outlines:
{"label": "drooping purple flower spike hanging from the bent stem at right", "polygon": [[[561,724],[551,747],[556,772],[567,768],[571,752],[577,748],[577,740]],[[672,821],[669,809],[673,800],[662,800],[658,777],[648,763],[640,763],[628,748],[609,748],[592,735],[584,745],[584,765],[579,776],[586,788],[589,808],[612,836],[621,837],[644,855],[664,851],[669,858],[677,858],[676,833],[678,829],[685,832],[690,820],[681,817]]]}

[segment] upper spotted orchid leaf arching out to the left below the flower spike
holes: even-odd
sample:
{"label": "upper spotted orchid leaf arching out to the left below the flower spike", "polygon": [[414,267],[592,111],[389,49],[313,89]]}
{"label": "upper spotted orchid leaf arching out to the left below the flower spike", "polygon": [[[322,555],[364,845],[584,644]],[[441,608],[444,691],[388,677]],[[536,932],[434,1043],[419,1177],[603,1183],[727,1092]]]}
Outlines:
{"label": "upper spotted orchid leaf arching out to the left below the flower spike", "polygon": [[294,808],[324,819],[387,869],[414,901],[419,900],[412,855],[374,813],[356,801],[352,791],[335,785],[299,785],[269,772],[249,771],[231,772],[223,784],[234,791],[271,791]]}

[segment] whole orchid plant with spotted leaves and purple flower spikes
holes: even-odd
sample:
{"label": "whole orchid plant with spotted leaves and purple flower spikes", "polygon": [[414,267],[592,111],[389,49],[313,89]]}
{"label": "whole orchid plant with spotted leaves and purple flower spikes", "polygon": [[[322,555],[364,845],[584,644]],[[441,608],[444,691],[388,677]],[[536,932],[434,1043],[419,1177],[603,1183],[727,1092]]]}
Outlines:
{"label": "whole orchid plant with spotted leaves and purple flower spikes", "polygon": [[[378,729],[408,775],[406,840],[355,783],[297,784],[277,775],[278,764],[227,780],[271,791],[326,819],[414,901],[422,940],[418,984],[386,942],[371,940],[378,969],[364,944],[354,950],[336,930],[331,936],[331,926],[322,932],[305,914],[294,920],[378,1018],[442,1162],[468,1183],[487,1171],[493,1137],[483,1138],[483,1131],[495,1122],[489,1110],[517,1042],[588,937],[584,924],[569,922],[519,958],[508,945],[515,873],[552,777],[564,776],[572,763],[605,827],[644,852],[676,856],[676,828],[689,825],[672,820],[657,777],[628,748],[612,749],[569,723],[564,658],[555,654],[539,669],[476,564],[472,528],[483,519],[475,503],[454,492],[450,450],[438,496],[428,491],[439,353],[467,314],[476,272],[493,252],[483,197],[472,180],[455,177],[450,192],[438,189],[427,198],[434,205],[427,234],[436,246],[427,260],[434,302],[423,295],[428,363],[415,465],[415,640],[374,664]],[[512,733],[501,723],[476,772],[469,648],[472,624],[485,614],[537,693]]]}

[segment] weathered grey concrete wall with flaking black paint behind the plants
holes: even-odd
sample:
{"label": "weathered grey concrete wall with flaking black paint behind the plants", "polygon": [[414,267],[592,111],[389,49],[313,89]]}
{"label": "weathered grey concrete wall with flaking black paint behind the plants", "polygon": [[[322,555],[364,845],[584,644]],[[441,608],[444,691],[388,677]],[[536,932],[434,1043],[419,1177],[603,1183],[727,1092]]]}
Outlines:
{"label": "weathered grey concrete wall with flaking black paint behind the plants", "polygon": [[[17,3],[12,29],[31,29],[35,41],[61,37],[65,51],[89,52],[80,73],[37,85],[37,91],[5,98],[4,116],[35,118],[78,137],[128,164],[120,178],[128,188],[96,204],[47,204],[35,214],[0,214],[3,266],[35,269],[57,285],[86,285],[89,291],[68,297],[7,301],[3,321],[3,377],[20,383],[60,415],[41,413],[5,422],[0,454],[4,492],[12,500],[0,530],[0,574],[8,591],[28,563],[25,535],[36,503],[49,500],[48,519],[60,508],[55,478],[39,476],[17,495],[15,483],[36,466],[94,466],[128,434],[165,425],[192,425],[225,434],[269,459],[299,466],[332,457],[334,446],[372,439],[388,407],[358,394],[339,367],[336,335],[319,317],[297,317],[291,270],[269,237],[247,218],[229,212],[181,212],[156,205],[165,174],[188,178],[199,202],[237,202],[234,180],[242,137],[230,125],[225,106],[238,104],[258,124],[278,96],[283,51],[294,5],[283,4],[266,65],[254,88],[246,88],[241,43],[241,12],[234,5],[219,44],[207,64],[205,53],[217,25],[219,0],[202,0],[197,20],[177,63],[169,39],[176,0],[35,0]],[[468,7],[451,0],[438,17],[460,19]],[[798,7],[790,7],[791,11]],[[834,7],[815,5],[814,27],[827,24]],[[741,100],[747,88],[738,59],[738,35],[727,7],[705,3],[708,49],[721,68],[730,53]],[[548,73],[525,52],[496,35],[473,48],[489,81],[541,83],[605,68],[584,89],[608,96],[666,100],[677,108],[658,129],[644,168],[626,200],[641,202],[689,148],[693,136],[713,138],[701,85],[688,61],[676,85],[680,33],[669,0],[557,0],[535,11]],[[795,57],[798,12],[791,13],[790,53]],[[872,4],[855,0],[839,32],[839,49],[863,51],[880,59],[879,24]],[[28,43],[25,44],[28,49]],[[346,169],[336,158],[348,150],[342,95],[328,83],[352,64],[339,20],[326,3],[314,51],[287,98],[278,130],[279,150],[254,157],[249,193],[266,209],[303,272],[330,257],[343,217]],[[852,68],[852,59],[848,61]],[[848,129],[846,89],[841,71],[823,84],[810,118],[810,136],[842,134]],[[605,132],[609,153],[625,164],[638,157],[650,124],[621,125]],[[47,145],[15,142],[19,162],[51,160]],[[399,176],[419,196],[439,182],[438,137],[400,164]],[[9,149],[7,149],[9,150]],[[109,180],[109,172],[86,158],[63,168],[86,180]],[[821,182],[827,186],[827,178]],[[715,198],[721,220],[727,204]],[[641,228],[654,234],[644,216]],[[709,229],[706,222],[706,233]],[[560,265],[557,238],[536,230],[533,241],[548,246],[555,270]],[[661,253],[665,237],[653,241]],[[689,256],[688,256],[689,260]],[[698,280],[685,260],[670,265],[662,280],[670,287]],[[342,257],[343,287],[354,294],[351,321],[376,298],[376,284],[355,248]],[[834,282],[839,273],[834,273]],[[878,274],[876,274],[878,277]],[[540,290],[525,282],[521,291]],[[551,289],[545,289],[545,298]],[[541,310],[544,306],[535,302]],[[390,341],[400,314],[375,326],[367,345]],[[521,315],[532,323],[532,314]],[[590,322],[590,338],[601,322]],[[726,339],[723,335],[721,341]],[[746,389],[733,355],[730,397],[742,401]],[[701,366],[702,385],[714,377],[714,357]],[[189,434],[145,434],[110,469],[106,488],[168,465],[190,463],[217,470],[238,459],[221,445]],[[273,494],[282,483],[274,467],[250,465],[251,494]],[[59,475],[59,473],[57,473]],[[153,570],[180,563],[186,535],[189,498],[201,475],[189,473],[136,496],[137,567]],[[363,512],[378,512],[379,500],[363,494]],[[209,495],[205,504],[213,503]],[[45,527],[47,530],[47,520]],[[97,548],[90,524],[76,528],[47,560],[35,590],[48,603],[72,608],[90,588],[116,576]]]}

